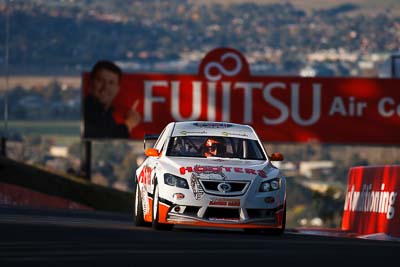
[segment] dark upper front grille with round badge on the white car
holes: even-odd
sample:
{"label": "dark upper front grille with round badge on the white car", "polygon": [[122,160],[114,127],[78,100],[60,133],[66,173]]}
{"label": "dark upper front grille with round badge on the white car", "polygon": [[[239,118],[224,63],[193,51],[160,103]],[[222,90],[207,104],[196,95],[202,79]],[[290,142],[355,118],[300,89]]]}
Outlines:
{"label": "dark upper front grille with round badge on the white car", "polygon": [[[210,180],[200,180],[200,183],[206,193],[212,195],[224,195],[224,196],[243,195],[250,184],[247,181],[228,182],[228,181],[210,181]],[[221,184],[224,184],[226,186],[225,187],[221,186]]]}

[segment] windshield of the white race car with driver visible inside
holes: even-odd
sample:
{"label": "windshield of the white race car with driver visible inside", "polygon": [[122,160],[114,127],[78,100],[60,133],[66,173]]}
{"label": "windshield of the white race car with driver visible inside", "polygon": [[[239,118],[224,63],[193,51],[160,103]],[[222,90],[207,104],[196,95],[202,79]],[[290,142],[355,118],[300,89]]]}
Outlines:
{"label": "windshield of the white race car with driver visible inside", "polygon": [[212,156],[248,160],[266,159],[263,150],[256,140],[213,136],[171,137],[166,155],[194,158]]}

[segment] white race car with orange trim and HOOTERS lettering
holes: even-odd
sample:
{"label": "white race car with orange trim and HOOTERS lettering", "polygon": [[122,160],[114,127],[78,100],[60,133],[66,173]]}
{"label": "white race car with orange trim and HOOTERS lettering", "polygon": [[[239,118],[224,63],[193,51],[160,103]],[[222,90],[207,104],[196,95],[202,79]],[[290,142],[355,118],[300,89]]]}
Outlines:
{"label": "white race car with orange trim and HOOTERS lettering", "polygon": [[[146,144],[146,138],[145,138]],[[286,178],[247,125],[169,123],[136,170],[134,223],[241,228],[282,234]]]}

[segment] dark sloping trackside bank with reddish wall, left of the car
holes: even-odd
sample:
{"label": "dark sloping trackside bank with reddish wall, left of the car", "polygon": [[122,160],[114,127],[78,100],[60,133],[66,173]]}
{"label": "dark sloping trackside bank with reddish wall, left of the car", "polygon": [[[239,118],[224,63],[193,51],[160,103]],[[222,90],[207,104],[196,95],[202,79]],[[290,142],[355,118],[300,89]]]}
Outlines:
{"label": "dark sloping trackside bank with reddish wall, left of the car", "polygon": [[119,213],[130,213],[133,207],[132,192],[103,187],[79,177],[52,173],[1,156],[0,183],[3,184],[3,201],[14,204],[49,207],[55,205],[55,201],[63,207],[89,207]]}

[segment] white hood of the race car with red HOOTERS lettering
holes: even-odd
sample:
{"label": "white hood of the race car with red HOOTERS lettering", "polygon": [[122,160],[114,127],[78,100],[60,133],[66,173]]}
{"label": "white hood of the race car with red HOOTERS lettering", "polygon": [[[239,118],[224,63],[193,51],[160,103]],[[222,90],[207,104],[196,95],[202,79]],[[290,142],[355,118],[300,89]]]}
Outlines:
{"label": "white hood of the race car with red HOOTERS lettering", "polygon": [[[193,173],[199,178],[209,180],[253,180],[256,177],[275,178],[279,175],[279,169],[264,160],[242,159],[188,159],[169,158],[166,161],[170,171],[189,178]],[[175,170],[175,171],[174,171]]]}

